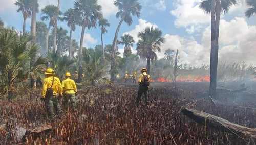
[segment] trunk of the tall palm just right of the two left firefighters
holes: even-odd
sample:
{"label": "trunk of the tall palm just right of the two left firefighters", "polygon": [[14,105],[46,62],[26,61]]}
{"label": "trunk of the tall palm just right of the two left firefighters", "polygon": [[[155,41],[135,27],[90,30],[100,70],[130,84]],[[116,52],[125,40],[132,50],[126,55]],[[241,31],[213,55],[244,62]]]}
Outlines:
{"label": "trunk of the tall palm just right of the two left firefighters", "polygon": [[83,37],[84,37],[84,32],[86,31],[86,25],[83,24],[82,26],[82,33],[81,33],[81,38],[80,38],[80,47],[79,47],[79,54],[78,54],[78,65],[79,65],[79,70],[78,70],[78,83],[81,83],[82,80],[82,47],[83,47]]}

